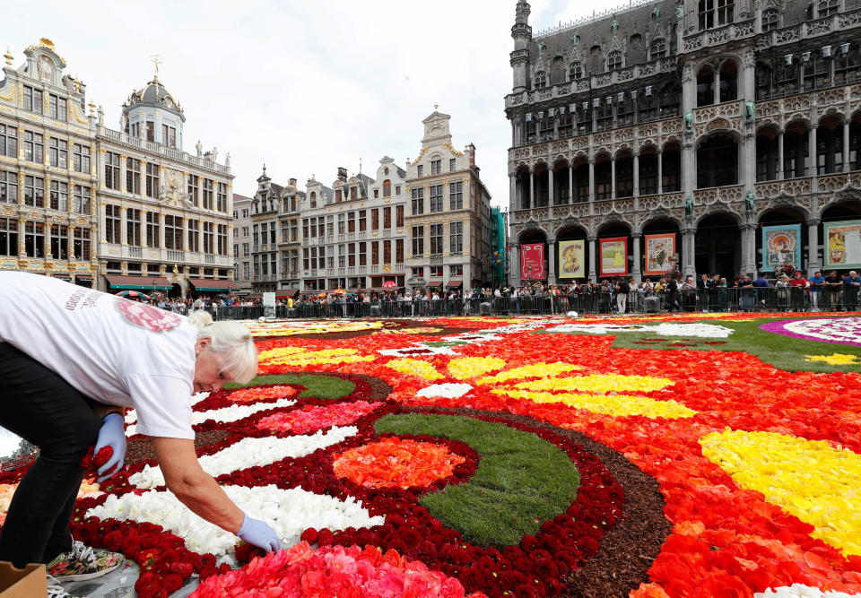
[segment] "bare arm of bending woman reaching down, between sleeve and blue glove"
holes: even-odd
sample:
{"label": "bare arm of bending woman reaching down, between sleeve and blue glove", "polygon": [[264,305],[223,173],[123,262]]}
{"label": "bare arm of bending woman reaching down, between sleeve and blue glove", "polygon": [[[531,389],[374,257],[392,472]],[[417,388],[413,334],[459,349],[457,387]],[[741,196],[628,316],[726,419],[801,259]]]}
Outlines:
{"label": "bare arm of bending woman reaching down, between sleeve and blue glove", "polygon": [[230,533],[239,533],[245,514],[197,462],[195,443],[185,438],[151,437],[168,490],[193,513]]}

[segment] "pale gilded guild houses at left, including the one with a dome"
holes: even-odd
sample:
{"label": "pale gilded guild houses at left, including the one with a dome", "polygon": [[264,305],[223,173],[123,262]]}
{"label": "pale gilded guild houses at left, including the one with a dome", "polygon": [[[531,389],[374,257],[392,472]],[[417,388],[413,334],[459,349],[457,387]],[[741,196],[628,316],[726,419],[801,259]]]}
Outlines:
{"label": "pale gilded guild houses at left, including the one with a dome", "polygon": [[24,56],[14,69],[6,52],[0,82],[0,269],[114,292],[230,290],[230,167],[200,142],[183,151],[186,117],[158,76],[113,130],[49,39]]}

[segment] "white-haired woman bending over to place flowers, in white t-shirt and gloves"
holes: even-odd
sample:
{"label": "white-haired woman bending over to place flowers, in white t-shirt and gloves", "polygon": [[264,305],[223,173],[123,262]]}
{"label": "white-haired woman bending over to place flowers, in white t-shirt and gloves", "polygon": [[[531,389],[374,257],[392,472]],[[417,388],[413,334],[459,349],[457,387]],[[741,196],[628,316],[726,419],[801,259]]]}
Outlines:
{"label": "white-haired woman bending over to place flowers, in white t-shirt and gloves", "polygon": [[91,578],[118,567],[117,555],[74,542],[69,520],[90,446],[110,446],[108,480],[126,453],[123,413],[137,412],[174,496],[204,520],[265,550],[281,542],[243,513],[198,464],[191,395],[246,383],[257,349],[238,322],[203,312],[178,316],[38,274],[0,273],[0,426],[39,446],[0,533],[0,560],[46,563],[58,579]]}

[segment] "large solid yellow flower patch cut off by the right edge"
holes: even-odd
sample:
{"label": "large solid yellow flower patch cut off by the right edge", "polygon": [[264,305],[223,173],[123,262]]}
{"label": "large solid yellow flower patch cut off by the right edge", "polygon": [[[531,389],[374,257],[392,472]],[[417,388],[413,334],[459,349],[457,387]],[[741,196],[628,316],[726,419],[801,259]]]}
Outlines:
{"label": "large solid yellow flower patch cut off by the right edge", "polygon": [[813,538],[861,555],[861,455],[823,440],[729,429],[700,445],[739,486],[813,525]]}

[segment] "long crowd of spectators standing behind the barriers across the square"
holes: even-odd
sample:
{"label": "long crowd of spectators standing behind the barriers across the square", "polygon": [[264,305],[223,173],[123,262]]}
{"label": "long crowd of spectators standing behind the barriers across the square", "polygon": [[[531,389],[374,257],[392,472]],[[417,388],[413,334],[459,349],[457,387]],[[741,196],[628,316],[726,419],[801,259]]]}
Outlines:
{"label": "long crowd of spectators standing behind the barriers across the square", "polygon": [[[420,288],[390,290],[337,290],[326,292],[297,291],[276,299],[276,308],[299,309],[305,313],[370,315],[370,305],[380,306],[386,314],[439,315],[479,313],[482,303],[490,303],[494,313],[639,313],[647,311],[855,311],[861,277],[856,271],[835,271],[822,276],[816,272],[809,279],[801,272],[791,276],[760,273],[755,279],[739,274],[731,281],[718,274],[701,274],[698,279],[680,273],[646,277],[604,278],[567,284],[525,282],[519,287],[476,287],[460,289]],[[168,297],[155,292],[141,299],[156,307],[186,314],[194,309],[222,311],[229,316],[235,308],[264,308],[260,296],[236,294],[200,295],[195,298]],[[393,305],[395,304],[395,305]],[[340,306],[331,308],[331,306]],[[226,308],[222,310],[222,308]],[[233,308],[233,309],[231,309]],[[281,313],[282,310],[279,310]],[[286,312],[285,312],[286,313]],[[295,311],[289,312],[295,315]]]}

